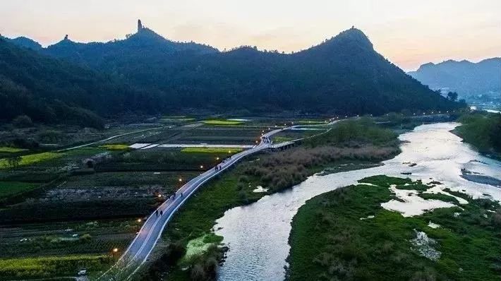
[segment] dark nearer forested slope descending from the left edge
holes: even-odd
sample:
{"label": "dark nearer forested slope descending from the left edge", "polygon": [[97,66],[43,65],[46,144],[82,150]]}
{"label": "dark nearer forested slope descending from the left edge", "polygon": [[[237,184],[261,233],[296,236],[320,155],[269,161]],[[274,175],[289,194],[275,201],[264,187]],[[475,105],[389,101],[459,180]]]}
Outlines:
{"label": "dark nearer forested slope descending from the left edge", "polygon": [[[150,101],[150,102],[148,102]],[[108,75],[0,38],[0,119],[102,126],[101,116],[155,110],[150,97]]]}

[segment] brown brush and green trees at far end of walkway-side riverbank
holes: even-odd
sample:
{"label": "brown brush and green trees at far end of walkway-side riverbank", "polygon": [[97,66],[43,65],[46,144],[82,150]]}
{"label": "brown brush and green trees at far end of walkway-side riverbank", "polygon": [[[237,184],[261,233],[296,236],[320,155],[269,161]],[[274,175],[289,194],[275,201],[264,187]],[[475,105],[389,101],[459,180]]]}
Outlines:
{"label": "brown brush and green trees at far end of walkway-side riverbank", "polygon": [[399,153],[397,134],[370,119],[344,121],[292,150],[272,153],[246,165],[244,173],[260,179],[269,191],[287,189],[330,164],[378,163]]}

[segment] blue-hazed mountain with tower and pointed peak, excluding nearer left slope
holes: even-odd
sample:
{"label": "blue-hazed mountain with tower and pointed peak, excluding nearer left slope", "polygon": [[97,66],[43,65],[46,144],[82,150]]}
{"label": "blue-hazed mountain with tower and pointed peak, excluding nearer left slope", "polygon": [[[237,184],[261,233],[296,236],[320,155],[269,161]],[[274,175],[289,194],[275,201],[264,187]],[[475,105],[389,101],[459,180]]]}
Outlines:
{"label": "blue-hazed mountain with tower and pointed peak, excluding nearer left slope", "polygon": [[[296,54],[260,52],[252,47],[217,52],[182,43],[162,49],[157,42],[171,43],[142,28],[126,40],[99,44],[104,49],[128,46],[120,56],[99,56],[103,52],[92,51],[95,44],[65,40],[47,52],[159,90],[173,109],[382,114],[455,106],[375,52],[366,35],[355,28]],[[73,51],[58,46],[66,43]]]}

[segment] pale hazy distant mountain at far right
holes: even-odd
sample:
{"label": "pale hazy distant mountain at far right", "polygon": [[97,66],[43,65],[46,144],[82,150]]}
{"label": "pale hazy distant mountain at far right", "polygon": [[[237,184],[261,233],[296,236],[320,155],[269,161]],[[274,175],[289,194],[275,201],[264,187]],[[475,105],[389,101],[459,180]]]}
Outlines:
{"label": "pale hazy distant mountain at far right", "polygon": [[409,75],[430,88],[458,92],[461,97],[501,93],[501,58],[470,61],[444,61],[423,64]]}

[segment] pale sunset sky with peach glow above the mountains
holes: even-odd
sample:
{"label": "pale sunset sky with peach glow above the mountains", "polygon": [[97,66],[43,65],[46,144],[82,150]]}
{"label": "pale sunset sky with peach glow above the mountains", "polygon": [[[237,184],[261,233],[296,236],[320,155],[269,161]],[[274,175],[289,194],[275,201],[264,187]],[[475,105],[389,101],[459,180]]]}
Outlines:
{"label": "pale sunset sky with peach glow above the mountains", "polygon": [[0,33],[47,46],[68,34],[105,42],[137,20],[176,41],[294,52],[354,25],[406,71],[501,56],[500,0],[1,0]]}

